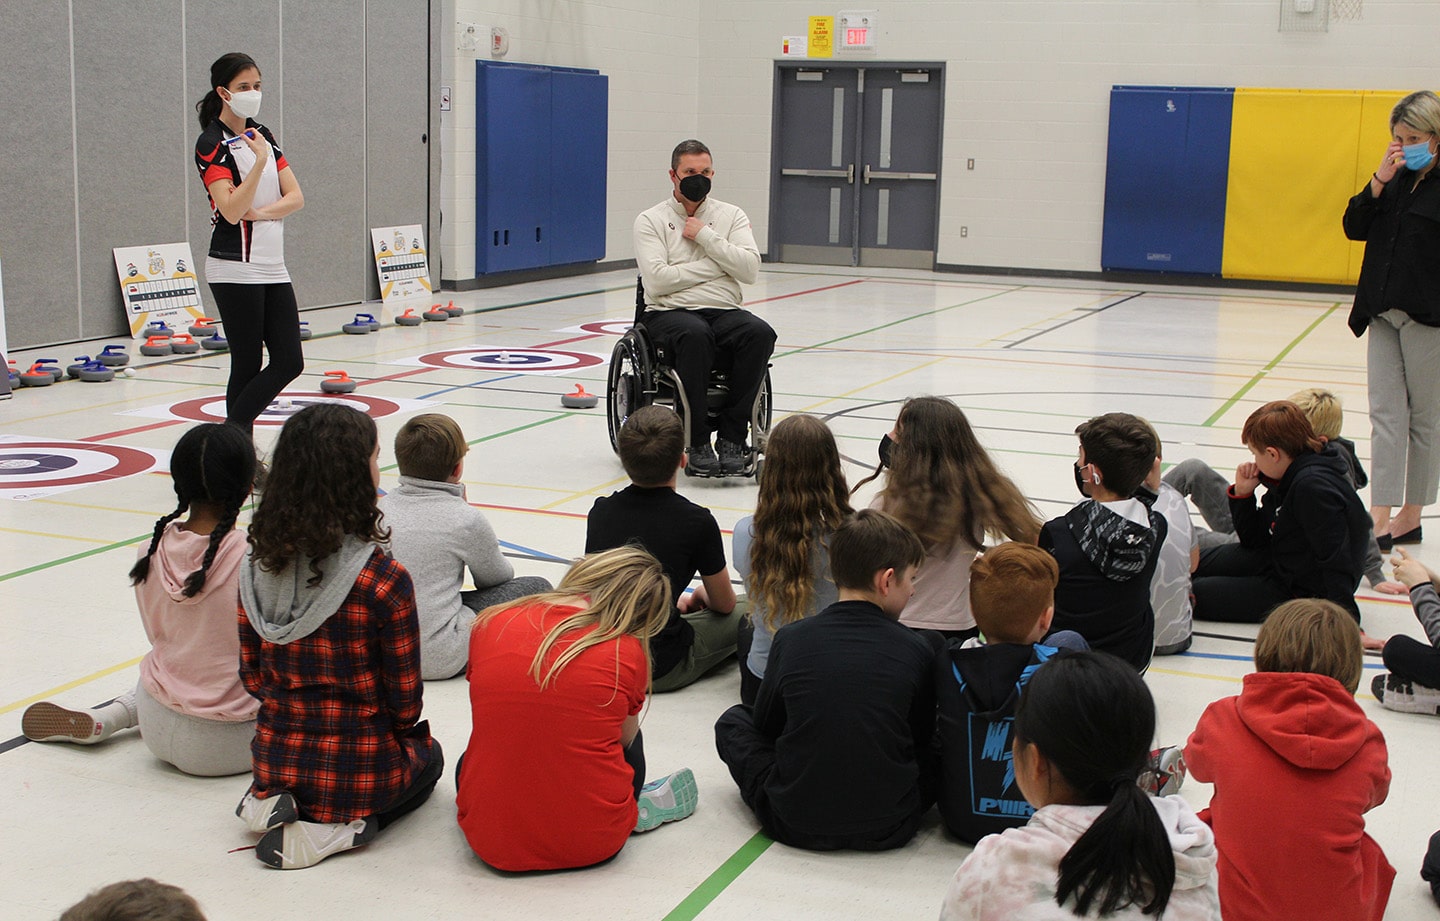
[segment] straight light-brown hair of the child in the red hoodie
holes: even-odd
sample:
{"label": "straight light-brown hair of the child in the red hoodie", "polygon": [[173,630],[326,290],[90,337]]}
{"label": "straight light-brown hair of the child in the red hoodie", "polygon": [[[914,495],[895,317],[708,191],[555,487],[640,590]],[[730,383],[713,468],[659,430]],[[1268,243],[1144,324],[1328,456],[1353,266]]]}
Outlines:
{"label": "straight light-brown hair of the child in the red hoodie", "polygon": [[1328,675],[1355,694],[1364,666],[1359,625],[1335,602],[1292,599],[1270,612],[1256,636],[1260,672]]}

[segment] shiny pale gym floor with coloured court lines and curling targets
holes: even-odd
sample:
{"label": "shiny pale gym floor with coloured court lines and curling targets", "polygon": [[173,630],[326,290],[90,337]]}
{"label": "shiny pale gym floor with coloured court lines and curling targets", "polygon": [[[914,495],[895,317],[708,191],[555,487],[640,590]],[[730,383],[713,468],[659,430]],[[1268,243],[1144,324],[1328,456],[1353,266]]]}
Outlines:
{"label": "shiny pale gym floor with coloured court lines and curling targets", "polygon": [[[320,389],[323,373],[346,370],[359,381],[354,397],[377,417],[382,485],[392,488],[400,422],[422,409],[449,413],[472,446],[471,502],[495,525],[517,573],[556,581],[583,548],[592,501],[626,482],[608,443],[603,394],[608,354],[634,312],[634,279],[629,271],[465,292],[455,296],[464,317],[387,324],[363,337],[340,327],[377,305],[307,312],[315,330],[307,371],[289,389],[289,409],[276,407],[256,440],[269,448],[275,423]],[[900,403],[926,393],[965,409],[1045,517],[1077,499],[1074,426],[1110,410],[1153,422],[1166,459],[1200,456],[1228,473],[1248,456],[1240,425],[1256,406],[1325,386],[1345,400],[1345,433],[1368,465],[1365,347],[1345,327],[1346,298],[808,266],[768,266],[746,294],[779,332],[776,417],[824,417],[852,482],[874,469],[876,445]],[[13,357],[22,367],[49,355],[69,364],[108,341],[121,340]],[[20,714],[29,704],[88,707],[134,686],[147,643],[125,573],[174,504],[161,472],[166,452],[223,397],[223,354],[137,355],[132,364],[132,378],[23,389],[0,403],[0,499],[9,499],[0,502],[0,612],[9,625],[0,740],[10,740],[0,741],[0,804],[10,816],[0,840],[0,917],[53,918],[99,885],[145,875],[184,886],[215,921],[477,911],[593,921],[937,914],[968,848],[935,813],[890,853],[809,853],[759,833],[714,753],[714,720],[739,699],[733,663],[652,698],[644,715],[652,776],[691,767],[701,790],[696,815],[631,839],[606,866],[560,875],[505,875],[481,863],[455,825],[449,771],[425,806],[374,845],[279,872],[253,859],[255,836],[233,815],[245,777],[180,774],[135,732],[94,747],[26,743]],[[560,394],[577,383],[600,394],[600,406],[563,409]],[[680,491],[727,531],[755,508],[753,481],[683,479]],[[1433,518],[1428,525],[1440,530]],[[1440,567],[1440,548],[1421,544],[1418,555]],[[1361,610],[1372,635],[1423,638],[1404,597],[1365,587]],[[1256,627],[1197,630],[1188,653],[1149,669],[1158,744],[1182,744],[1204,707],[1237,694],[1251,669]],[[1440,827],[1440,764],[1426,754],[1440,724],[1382,709],[1369,695],[1380,671],[1367,658],[1358,697],[1385,732],[1394,780],[1368,827],[1398,871],[1387,917],[1431,918],[1418,868]],[[469,732],[467,684],[431,682],[425,691],[425,717],[454,763]],[[544,796],[547,783],[537,779],[536,789],[514,794]],[[1210,799],[1195,781],[1182,793],[1195,807]]]}

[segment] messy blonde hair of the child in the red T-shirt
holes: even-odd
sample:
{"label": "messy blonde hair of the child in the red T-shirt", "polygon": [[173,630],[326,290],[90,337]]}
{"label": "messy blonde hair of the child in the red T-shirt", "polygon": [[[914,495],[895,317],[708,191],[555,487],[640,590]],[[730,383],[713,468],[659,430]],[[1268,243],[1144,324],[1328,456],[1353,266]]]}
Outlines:
{"label": "messy blonde hair of the child in the red T-shirt", "polygon": [[[660,561],[639,547],[616,547],[582,557],[564,574],[553,591],[495,604],[480,612],[474,629],[490,625],[495,614],[527,604],[546,609],[564,607],[576,597],[589,604],[562,617],[546,630],[530,661],[530,676],[541,688],[549,688],[556,675],[590,646],[599,646],[622,636],[634,636],[649,659],[649,640],[670,619],[670,579]],[[582,633],[564,646],[546,666],[546,658],[567,633]],[[647,686],[648,686],[647,679]]]}

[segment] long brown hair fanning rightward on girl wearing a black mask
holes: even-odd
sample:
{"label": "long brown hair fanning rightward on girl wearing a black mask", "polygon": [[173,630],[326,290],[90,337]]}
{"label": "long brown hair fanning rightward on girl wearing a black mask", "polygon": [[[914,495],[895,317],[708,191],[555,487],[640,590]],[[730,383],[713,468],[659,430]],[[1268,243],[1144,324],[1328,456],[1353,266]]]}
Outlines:
{"label": "long brown hair fanning rightward on girl wearing a black mask", "polygon": [[880,507],[919,534],[926,551],[956,538],[981,547],[986,534],[1034,544],[1043,524],[995,466],[960,407],[945,397],[910,397],[900,407]]}

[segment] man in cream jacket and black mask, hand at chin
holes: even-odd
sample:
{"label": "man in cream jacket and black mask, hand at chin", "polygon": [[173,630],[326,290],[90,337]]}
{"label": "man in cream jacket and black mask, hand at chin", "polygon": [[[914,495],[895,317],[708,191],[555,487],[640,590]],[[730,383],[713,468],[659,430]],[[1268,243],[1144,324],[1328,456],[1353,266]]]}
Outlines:
{"label": "man in cream jacket and black mask, hand at chin", "polygon": [[[710,197],[710,148],[681,141],[670,155],[671,196],[635,219],[635,262],[645,289],[645,328],[672,355],[684,386],[688,465],[701,476],[744,471],[750,412],[765,381],[775,330],[740,307],[760,250],[750,219]],[[706,425],[706,384],[717,358],[730,367],[730,393],[714,448]]]}

